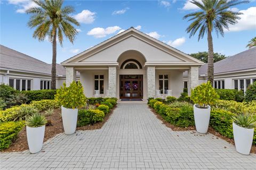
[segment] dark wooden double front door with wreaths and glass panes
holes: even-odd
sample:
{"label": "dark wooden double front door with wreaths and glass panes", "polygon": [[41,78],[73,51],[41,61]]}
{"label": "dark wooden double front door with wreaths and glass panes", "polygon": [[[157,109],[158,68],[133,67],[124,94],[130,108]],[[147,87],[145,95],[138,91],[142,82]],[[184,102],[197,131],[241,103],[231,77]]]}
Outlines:
{"label": "dark wooden double front door with wreaths and glass panes", "polygon": [[143,75],[120,75],[120,98],[143,98]]}

